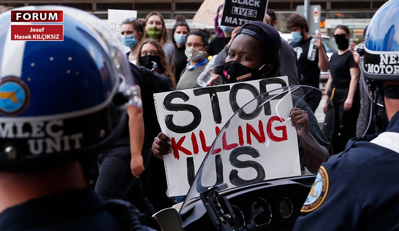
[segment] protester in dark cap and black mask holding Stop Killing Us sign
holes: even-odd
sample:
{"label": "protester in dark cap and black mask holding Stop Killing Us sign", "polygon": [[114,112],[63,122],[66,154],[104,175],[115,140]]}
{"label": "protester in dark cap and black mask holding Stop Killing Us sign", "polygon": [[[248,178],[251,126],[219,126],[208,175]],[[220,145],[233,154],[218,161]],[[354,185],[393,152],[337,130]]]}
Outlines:
{"label": "protester in dark cap and black mask holding Stop Killing Us sign", "polygon": [[[278,70],[280,49],[281,38],[276,29],[258,21],[244,24],[229,48],[224,64],[224,80],[234,83],[268,78],[270,73]],[[329,152],[329,143],[307,104],[295,96],[292,100],[294,105],[303,109],[295,108],[290,115],[301,141],[299,146],[304,153],[301,154],[301,163],[315,173],[324,161],[318,157]],[[309,126],[309,123],[316,126]],[[163,155],[171,153],[172,146],[168,143],[170,141],[165,134],[160,133],[154,139],[154,155],[163,158]],[[320,153],[323,155],[319,155]]]}

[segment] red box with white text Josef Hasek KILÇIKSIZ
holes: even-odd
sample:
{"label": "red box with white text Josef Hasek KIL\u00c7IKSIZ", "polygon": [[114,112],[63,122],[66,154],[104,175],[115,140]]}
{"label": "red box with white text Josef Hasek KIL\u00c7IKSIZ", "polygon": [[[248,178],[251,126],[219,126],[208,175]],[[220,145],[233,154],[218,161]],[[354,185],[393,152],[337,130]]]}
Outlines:
{"label": "red box with white text Josef Hasek KIL\u00c7IKSIZ", "polygon": [[11,40],[63,41],[64,25],[11,25]]}

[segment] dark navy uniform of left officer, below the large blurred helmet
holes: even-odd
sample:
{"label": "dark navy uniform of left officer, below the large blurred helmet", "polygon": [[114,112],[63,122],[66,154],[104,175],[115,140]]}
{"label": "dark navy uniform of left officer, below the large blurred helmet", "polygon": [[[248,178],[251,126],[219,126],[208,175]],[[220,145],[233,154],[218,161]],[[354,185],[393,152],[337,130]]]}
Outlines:
{"label": "dark navy uniform of left officer, below the large blurred helmet", "polygon": [[120,222],[90,188],[33,199],[0,213],[1,231],[119,231]]}

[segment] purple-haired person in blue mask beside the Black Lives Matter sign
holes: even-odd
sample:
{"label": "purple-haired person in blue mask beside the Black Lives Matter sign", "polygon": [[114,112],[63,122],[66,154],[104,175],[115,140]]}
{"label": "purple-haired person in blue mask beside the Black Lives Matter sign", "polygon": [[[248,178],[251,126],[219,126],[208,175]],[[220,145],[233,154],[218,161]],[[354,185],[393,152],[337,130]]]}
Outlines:
{"label": "purple-haired person in blue mask beside the Black Lives Matter sign", "polygon": [[214,18],[216,37],[209,42],[209,47],[207,51],[209,55],[218,54],[224,48],[224,46],[227,45],[231,38],[231,32],[234,29],[232,27],[221,25],[222,14],[223,4],[221,4],[217,8],[217,13]]}

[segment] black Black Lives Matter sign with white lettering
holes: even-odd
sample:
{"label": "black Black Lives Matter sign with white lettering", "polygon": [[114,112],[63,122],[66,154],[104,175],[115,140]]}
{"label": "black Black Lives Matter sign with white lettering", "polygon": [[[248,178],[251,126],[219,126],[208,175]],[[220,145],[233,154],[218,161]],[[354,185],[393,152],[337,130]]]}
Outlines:
{"label": "black Black Lives Matter sign with white lettering", "polygon": [[269,0],[225,0],[222,25],[236,27],[250,21],[263,21]]}

